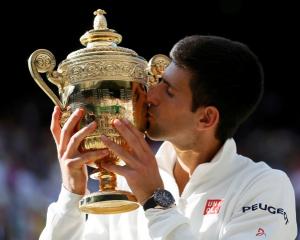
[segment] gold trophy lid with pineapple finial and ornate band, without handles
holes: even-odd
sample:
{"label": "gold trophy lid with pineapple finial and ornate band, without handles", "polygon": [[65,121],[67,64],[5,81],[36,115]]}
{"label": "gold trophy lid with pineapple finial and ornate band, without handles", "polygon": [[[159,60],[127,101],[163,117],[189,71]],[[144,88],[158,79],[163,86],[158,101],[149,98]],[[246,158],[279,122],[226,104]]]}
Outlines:
{"label": "gold trophy lid with pineapple finial and ornate band, without handles", "polygon": [[57,72],[64,76],[65,85],[94,80],[139,81],[146,84],[147,61],[128,48],[119,47],[122,36],[107,27],[106,12],[94,12],[94,28],[80,42],[85,48],[71,52]]}

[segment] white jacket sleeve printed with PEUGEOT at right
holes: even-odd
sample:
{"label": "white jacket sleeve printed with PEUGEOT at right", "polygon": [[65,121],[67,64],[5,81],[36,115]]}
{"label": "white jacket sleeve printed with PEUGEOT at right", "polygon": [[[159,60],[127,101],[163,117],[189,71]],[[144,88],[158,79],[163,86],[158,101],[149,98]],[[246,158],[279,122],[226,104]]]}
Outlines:
{"label": "white jacket sleeve printed with PEUGEOT at right", "polygon": [[295,194],[284,172],[267,171],[239,196],[233,215],[224,220],[220,240],[296,239]]}

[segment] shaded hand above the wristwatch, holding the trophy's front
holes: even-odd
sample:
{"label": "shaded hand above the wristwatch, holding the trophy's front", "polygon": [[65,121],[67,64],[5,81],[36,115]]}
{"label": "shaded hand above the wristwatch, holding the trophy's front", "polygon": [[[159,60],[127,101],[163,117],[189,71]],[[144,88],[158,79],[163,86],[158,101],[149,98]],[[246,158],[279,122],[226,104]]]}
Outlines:
{"label": "shaded hand above the wristwatch, holding the trophy's front", "polygon": [[113,125],[127,142],[122,147],[105,136],[101,136],[104,144],[115,152],[125,166],[103,162],[102,167],[126,178],[132,192],[140,203],[149,198],[157,188],[163,187],[155,156],[144,139],[144,135],[131,125],[128,120],[116,119]]}

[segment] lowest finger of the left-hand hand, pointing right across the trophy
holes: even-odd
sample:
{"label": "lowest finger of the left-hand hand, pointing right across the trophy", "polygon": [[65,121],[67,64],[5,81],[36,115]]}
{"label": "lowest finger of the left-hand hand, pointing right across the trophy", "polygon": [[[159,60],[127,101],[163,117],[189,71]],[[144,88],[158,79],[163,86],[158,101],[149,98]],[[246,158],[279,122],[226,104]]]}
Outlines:
{"label": "lowest finger of the left-hand hand, pointing right across the trophy", "polygon": [[65,164],[68,166],[68,168],[81,168],[85,164],[90,164],[95,162],[96,160],[100,160],[105,158],[109,154],[109,151],[107,149],[101,149],[97,151],[90,151],[83,154],[80,154],[80,156],[68,159],[65,161]]}

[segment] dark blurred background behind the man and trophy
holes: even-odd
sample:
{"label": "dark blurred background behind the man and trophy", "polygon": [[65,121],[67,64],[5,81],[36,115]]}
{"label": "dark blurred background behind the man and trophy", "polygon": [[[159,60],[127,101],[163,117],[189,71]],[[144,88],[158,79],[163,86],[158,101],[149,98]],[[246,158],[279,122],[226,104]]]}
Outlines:
{"label": "dark blurred background behind the man and trophy", "polygon": [[[26,1],[2,8],[0,117],[0,239],[37,239],[47,206],[60,188],[49,126],[53,103],[29,74],[39,48],[57,63],[82,48],[93,11],[106,10],[120,46],[150,59],[168,54],[192,34],[220,35],[247,44],[265,69],[265,95],[237,133],[238,151],[290,177],[300,201],[300,128],[296,7],[288,1]],[[297,30],[298,29],[298,30]],[[49,83],[50,85],[50,83]],[[53,88],[53,87],[52,87]],[[53,88],[55,91],[55,87]],[[57,91],[56,91],[57,92]],[[151,143],[153,144],[153,143]],[[153,144],[155,149],[158,144]],[[93,187],[93,183],[91,183]]]}

